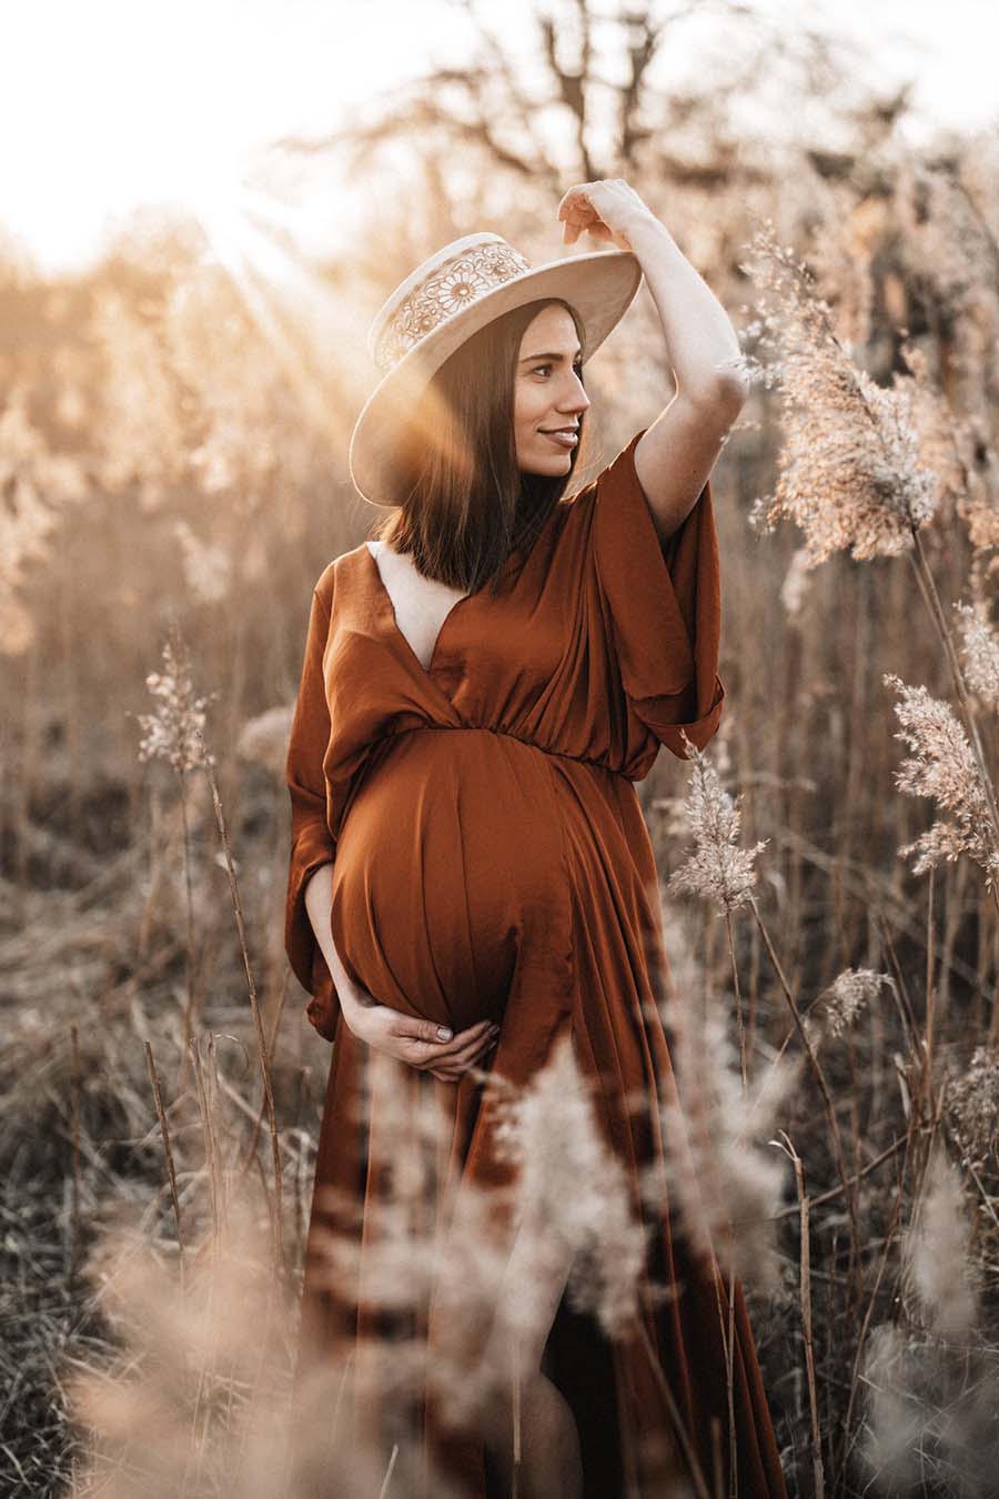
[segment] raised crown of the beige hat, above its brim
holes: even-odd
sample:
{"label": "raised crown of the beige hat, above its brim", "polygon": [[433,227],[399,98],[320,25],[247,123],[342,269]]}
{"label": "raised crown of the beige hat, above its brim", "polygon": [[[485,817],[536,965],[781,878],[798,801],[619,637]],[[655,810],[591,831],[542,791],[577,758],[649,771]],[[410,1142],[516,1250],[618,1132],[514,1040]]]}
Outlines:
{"label": "raised crown of the beige hat, above its brim", "polygon": [[530,270],[500,234],[466,234],[425,259],[377,312],[368,348],[382,373],[440,324]]}

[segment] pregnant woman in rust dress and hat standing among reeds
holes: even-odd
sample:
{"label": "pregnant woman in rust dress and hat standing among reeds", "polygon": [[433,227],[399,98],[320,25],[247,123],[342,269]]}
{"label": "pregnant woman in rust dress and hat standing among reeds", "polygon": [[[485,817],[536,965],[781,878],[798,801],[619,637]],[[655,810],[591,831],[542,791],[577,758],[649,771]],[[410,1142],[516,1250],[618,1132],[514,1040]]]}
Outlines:
{"label": "pregnant woman in rust dress and hat standing among reeds", "polygon": [[[690,1483],[678,1414],[708,1486],[716,1469],[725,1478],[711,1499],[729,1493],[732,1456],[732,1493],[785,1499],[741,1288],[731,1454],[728,1288],[698,1270],[665,1198],[650,1220],[638,1178],[664,1141],[650,1139],[655,1108],[634,1108],[635,1091],[662,1099],[672,1076],[634,782],[662,745],[684,758],[681,729],[704,747],[722,714],[708,474],[744,400],[738,342],[626,183],[572,187],[559,217],[565,243],[589,231],[613,247],[532,270],[500,235],[470,234],[406,277],[371,327],[382,379],[350,472],[391,513],[316,583],[288,752],[286,947],[333,1042],[300,1372],[306,1349],[359,1346],[382,1325],[319,1264],[327,1232],[353,1234],[361,1265],[377,1234],[380,1121],[397,1127],[430,1091],[448,1121],[440,1192],[455,1177],[488,1187],[503,1172],[475,1073],[527,1084],[569,1037],[650,1226],[649,1277],[672,1295],[644,1298],[644,1348],[610,1358],[593,1319],[551,1288],[553,1322],[521,1385],[517,1492],[707,1495],[672,1487]],[[590,406],[583,364],[643,273],[677,394],[568,493]],[[622,1402],[644,1439],[637,1472]],[[448,1447],[430,1405],[427,1441],[454,1492],[505,1499],[509,1412]]]}

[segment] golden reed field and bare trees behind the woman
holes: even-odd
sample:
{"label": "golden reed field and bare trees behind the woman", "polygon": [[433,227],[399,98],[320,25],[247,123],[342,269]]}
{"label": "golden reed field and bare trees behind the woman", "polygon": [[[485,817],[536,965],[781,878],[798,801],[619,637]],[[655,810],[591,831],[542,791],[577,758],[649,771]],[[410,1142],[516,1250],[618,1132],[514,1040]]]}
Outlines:
{"label": "golden reed field and bare trees behind the woman", "polygon": [[[738,1190],[788,1487],[992,1492],[998,141],[906,145],[905,96],[848,97],[804,30],[819,123],[735,133],[773,39],[732,12],[725,87],[662,93],[669,30],[622,22],[613,85],[587,13],[539,16],[530,96],[484,46],[285,141],[368,195],[340,258],[247,211],[136,219],[79,277],[0,265],[3,1493],[277,1492],[330,1060],[282,947],[282,770],[312,586],[376,514],[346,466],[364,333],[461,234],[554,258],[565,189],[611,175],[758,373],[711,481],[726,712],[640,794],[683,1003],[720,1016],[678,1072]],[[587,385],[596,468],[672,394],[647,289]],[[172,625],[219,802],[139,755]],[[220,1313],[234,1282],[252,1315]],[[352,1459],[340,1492],[406,1493]]]}

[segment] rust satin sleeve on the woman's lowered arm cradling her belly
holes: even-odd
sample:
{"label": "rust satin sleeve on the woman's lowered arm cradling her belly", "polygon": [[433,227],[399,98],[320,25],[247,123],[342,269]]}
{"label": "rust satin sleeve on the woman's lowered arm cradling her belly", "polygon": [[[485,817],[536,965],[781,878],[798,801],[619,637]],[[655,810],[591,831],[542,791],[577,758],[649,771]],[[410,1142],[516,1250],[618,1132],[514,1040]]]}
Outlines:
{"label": "rust satin sleeve on the woman's lowered arm cradling her belly", "polygon": [[321,1036],[333,1040],[340,1000],[306,910],[306,886],[310,877],[321,865],[331,863],[335,856],[335,839],[327,823],[327,787],[322,767],[330,742],[330,706],[322,670],[328,631],[330,610],[321,595],[313,591],[306,658],[285,764],[285,781],[292,803],[285,950],[298,982],[312,994],[306,1015]]}

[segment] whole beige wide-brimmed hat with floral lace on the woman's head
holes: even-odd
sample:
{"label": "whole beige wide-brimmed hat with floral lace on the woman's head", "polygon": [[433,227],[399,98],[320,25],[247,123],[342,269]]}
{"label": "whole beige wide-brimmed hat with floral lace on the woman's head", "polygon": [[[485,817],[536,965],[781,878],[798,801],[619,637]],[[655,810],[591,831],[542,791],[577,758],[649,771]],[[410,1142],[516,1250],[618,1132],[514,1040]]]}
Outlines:
{"label": "whole beige wide-brimmed hat with floral lace on the woman's head", "polygon": [[583,324],[589,360],[623,318],[641,285],[631,250],[593,250],[530,267],[500,234],[466,234],[428,256],[386,298],[368,351],[382,378],[350,435],[350,478],[371,505],[400,505],[397,441],[403,417],[466,339],[514,307],[544,297],[568,301]]}

